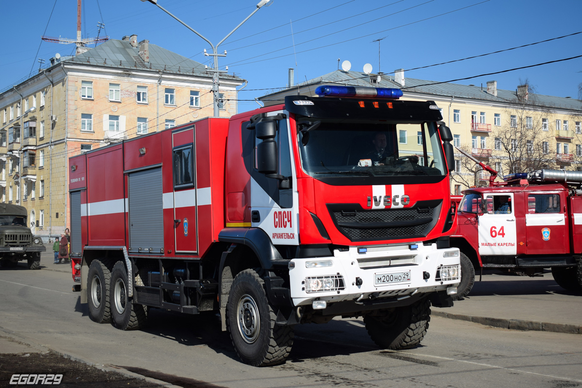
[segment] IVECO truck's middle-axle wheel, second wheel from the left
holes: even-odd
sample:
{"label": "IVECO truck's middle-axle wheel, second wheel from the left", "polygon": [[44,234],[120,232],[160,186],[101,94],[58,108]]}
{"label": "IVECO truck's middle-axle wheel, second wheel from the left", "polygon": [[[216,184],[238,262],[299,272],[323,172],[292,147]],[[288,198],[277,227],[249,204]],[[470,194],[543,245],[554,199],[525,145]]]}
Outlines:
{"label": "IVECO truck's middle-axle wheel, second wheel from the left", "polygon": [[109,295],[111,296],[111,319],[113,326],[120,330],[137,330],[147,322],[148,309],[143,304],[134,304],[129,300],[127,290],[127,270],[122,261],[113,265]]}

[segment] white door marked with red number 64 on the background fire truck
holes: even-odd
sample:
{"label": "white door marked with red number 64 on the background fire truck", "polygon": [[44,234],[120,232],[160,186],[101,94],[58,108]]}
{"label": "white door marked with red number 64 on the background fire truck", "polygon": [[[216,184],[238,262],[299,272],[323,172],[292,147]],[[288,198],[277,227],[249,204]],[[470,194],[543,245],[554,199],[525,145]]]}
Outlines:
{"label": "white door marked with red number 64 on the background fire truck", "polygon": [[479,217],[479,254],[516,255],[517,231],[513,193],[485,194],[485,209]]}

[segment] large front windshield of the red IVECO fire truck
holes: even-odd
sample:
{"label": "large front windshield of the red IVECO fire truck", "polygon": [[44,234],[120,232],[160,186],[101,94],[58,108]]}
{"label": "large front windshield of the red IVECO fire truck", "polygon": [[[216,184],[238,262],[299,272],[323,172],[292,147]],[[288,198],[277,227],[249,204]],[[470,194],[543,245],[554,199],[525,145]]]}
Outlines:
{"label": "large front windshield of the red IVECO fire truck", "polygon": [[446,175],[435,123],[310,118],[321,124],[306,131],[310,125],[297,122],[301,164],[311,176]]}

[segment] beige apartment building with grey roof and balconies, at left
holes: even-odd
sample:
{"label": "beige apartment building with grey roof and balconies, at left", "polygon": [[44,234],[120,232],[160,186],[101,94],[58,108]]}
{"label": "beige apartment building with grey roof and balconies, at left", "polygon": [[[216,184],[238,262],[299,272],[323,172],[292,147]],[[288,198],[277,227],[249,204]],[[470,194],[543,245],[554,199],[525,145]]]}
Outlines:
{"label": "beige apartment building with grey roof and balconies, at left", "polygon": [[[236,87],[221,73],[221,117]],[[51,59],[0,93],[0,200],[27,208],[46,242],[69,227],[68,159],[80,152],[213,115],[212,73],[137,35]]]}

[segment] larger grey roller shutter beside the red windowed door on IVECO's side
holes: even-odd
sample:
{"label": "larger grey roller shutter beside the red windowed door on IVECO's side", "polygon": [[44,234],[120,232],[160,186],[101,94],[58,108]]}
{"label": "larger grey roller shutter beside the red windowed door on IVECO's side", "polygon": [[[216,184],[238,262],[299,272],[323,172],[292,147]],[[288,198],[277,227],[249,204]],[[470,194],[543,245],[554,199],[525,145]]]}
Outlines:
{"label": "larger grey roller shutter beside the red windowed door on IVECO's side", "polygon": [[129,174],[129,251],[164,252],[162,168]]}

